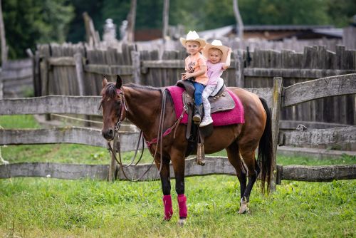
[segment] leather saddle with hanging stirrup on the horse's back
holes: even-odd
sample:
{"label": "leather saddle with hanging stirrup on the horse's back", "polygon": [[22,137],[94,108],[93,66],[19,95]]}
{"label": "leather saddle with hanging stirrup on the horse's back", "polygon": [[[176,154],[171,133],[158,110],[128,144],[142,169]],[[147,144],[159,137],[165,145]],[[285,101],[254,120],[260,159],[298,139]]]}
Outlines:
{"label": "leather saddle with hanging stirrup on the horse's back", "polygon": [[[191,155],[194,150],[197,150],[197,164],[205,165],[204,162],[204,138],[209,137],[213,133],[213,124],[199,128],[199,125],[192,123],[192,117],[194,113],[194,91],[192,81],[177,81],[176,86],[184,88],[182,95],[183,104],[188,108],[188,124],[186,131],[186,138],[188,140],[186,157]],[[211,113],[216,113],[224,110],[231,110],[235,107],[235,101],[231,98],[231,95],[226,92],[226,86],[223,84],[218,93],[208,98],[211,105]]]}

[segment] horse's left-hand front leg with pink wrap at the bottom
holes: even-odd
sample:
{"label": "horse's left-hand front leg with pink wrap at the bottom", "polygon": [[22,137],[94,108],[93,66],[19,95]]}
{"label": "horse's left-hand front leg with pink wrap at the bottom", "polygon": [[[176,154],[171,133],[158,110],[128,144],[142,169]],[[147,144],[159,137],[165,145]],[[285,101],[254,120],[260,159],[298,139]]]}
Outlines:
{"label": "horse's left-hand front leg with pink wrap at the bottom", "polygon": [[[157,168],[160,167],[160,157],[156,156],[155,163]],[[169,220],[173,215],[172,197],[171,197],[171,180],[169,176],[169,158],[163,157],[162,169],[159,172],[161,178],[162,192],[163,192],[163,206],[164,206],[164,219]]]}

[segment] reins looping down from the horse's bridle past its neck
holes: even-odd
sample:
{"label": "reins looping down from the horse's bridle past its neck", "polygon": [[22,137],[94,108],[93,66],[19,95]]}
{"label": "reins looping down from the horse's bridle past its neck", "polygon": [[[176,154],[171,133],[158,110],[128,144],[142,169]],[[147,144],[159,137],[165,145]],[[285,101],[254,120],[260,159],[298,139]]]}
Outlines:
{"label": "reins looping down from the horse's bridle past its neck", "polygon": [[[153,160],[150,164],[150,166],[147,168],[147,170],[145,170],[145,172],[140,176],[138,177],[137,179],[133,180],[133,179],[130,179],[129,177],[127,177],[123,167],[130,167],[132,165],[132,163],[135,161],[135,157],[137,155],[137,151],[138,151],[138,148],[139,148],[139,145],[140,145],[140,141],[142,139],[142,151],[141,151],[141,155],[140,155],[140,159],[135,163],[135,165],[138,164],[138,162],[140,162],[140,160],[142,159],[142,155],[143,155],[143,151],[144,151],[144,139],[143,139],[143,133],[142,133],[142,130],[140,132],[140,137],[139,137],[139,140],[137,142],[137,147],[136,147],[136,150],[135,150],[135,155],[132,157],[132,160],[130,162],[129,165],[123,165],[122,164],[122,158],[121,158],[121,151],[120,151],[120,136],[119,136],[119,129],[120,129],[120,125],[121,125],[121,122],[122,120],[124,119],[123,118],[123,113],[124,113],[124,110],[127,112],[127,105],[126,105],[126,101],[125,101],[125,95],[124,93],[122,92],[122,90],[120,89],[117,89],[117,94],[118,95],[121,95],[121,108],[120,108],[120,112],[118,112],[118,114],[120,115],[118,118],[118,121],[115,125],[115,131],[114,131],[114,140],[113,140],[113,146],[114,146],[114,149],[112,149],[112,146],[111,146],[111,143],[108,141],[108,147],[109,147],[109,150],[112,152],[112,157],[115,158],[116,162],[118,165],[120,165],[120,168],[121,168],[121,171],[122,171],[122,174],[125,176],[125,178],[127,180],[130,180],[131,182],[137,182],[138,180],[141,180],[142,177],[144,177],[147,172],[151,169],[152,165],[153,165],[153,162],[155,162],[155,157],[157,155],[157,149],[158,149],[158,145],[159,145],[159,157],[160,157],[160,164],[159,164],[159,170],[158,170],[158,174],[161,172],[162,170],[162,163],[163,163],[163,154],[162,154],[162,143],[163,143],[163,138],[164,136],[166,135],[169,135],[169,133],[172,132],[172,130],[175,128],[174,130],[174,138],[175,138],[175,133],[176,133],[176,130],[177,130],[177,125],[179,125],[180,123],[180,120],[182,120],[183,118],[183,115],[185,113],[186,110],[183,110],[182,111],[182,114],[179,116],[178,120],[174,123],[174,125],[172,125],[172,127],[168,128],[166,131],[164,131],[163,133],[163,125],[164,125],[164,114],[165,114],[165,110],[166,110],[166,93],[164,92],[164,90],[160,89],[160,92],[162,93],[162,105],[161,105],[161,112],[159,114],[159,125],[158,125],[158,131],[157,131],[157,138],[151,140],[150,142],[147,142],[147,147],[150,148],[150,146],[152,144],[157,144],[156,148],[155,148],[155,154],[153,155]],[[184,108],[185,109],[185,108]],[[119,155],[119,159],[117,160],[117,157],[116,157],[116,153],[118,153]],[[135,166],[134,165],[134,166]]]}

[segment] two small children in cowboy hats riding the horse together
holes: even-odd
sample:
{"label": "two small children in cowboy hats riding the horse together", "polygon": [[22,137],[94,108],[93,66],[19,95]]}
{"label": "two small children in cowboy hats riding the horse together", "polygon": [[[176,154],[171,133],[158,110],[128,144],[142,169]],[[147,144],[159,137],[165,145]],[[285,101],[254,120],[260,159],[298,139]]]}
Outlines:
{"label": "two small children in cowboy hats riding the horse together", "polygon": [[[231,48],[223,46],[219,40],[206,43],[196,31],[189,31],[187,38],[180,38],[180,41],[189,53],[185,58],[186,72],[182,73],[182,80],[192,81],[195,88],[193,120],[199,127],[204,127],[213,123],[208,98],[215,95],[224,84],[220,77],[230,66]],[[201,120],[203,106],[204,118]]]}

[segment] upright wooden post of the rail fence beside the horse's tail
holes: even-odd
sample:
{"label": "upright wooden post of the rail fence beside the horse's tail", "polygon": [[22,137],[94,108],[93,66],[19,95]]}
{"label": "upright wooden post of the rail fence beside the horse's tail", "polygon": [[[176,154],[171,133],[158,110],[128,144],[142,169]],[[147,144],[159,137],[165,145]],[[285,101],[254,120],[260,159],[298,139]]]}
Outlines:
{"label": "upright wooden post of the rail fence beside the horse's tail", "polygon": [[279,134],[279,113],[281,112],[281,96],[282,96],[282,78],[273,78],[273,102],[272,102],[272,142],[273,142],[273,160],[272,160],[272,176],[271,192],[276,191],[277,180],[277,144]]}

